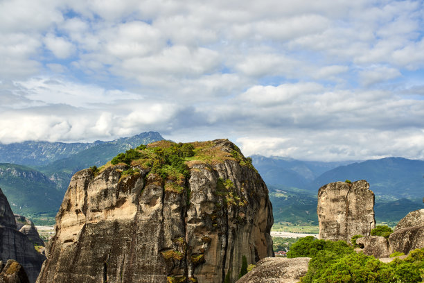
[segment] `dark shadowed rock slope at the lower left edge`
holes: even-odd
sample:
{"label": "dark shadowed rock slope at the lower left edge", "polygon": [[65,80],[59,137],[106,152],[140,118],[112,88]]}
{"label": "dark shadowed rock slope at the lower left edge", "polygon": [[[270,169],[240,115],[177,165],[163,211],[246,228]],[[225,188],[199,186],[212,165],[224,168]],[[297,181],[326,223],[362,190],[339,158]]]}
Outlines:
{"label": "dark shadowed rock slope at the lower left edge", "polygon": [[46,257],[39,254],[28,237],[17,230],[15,216],[0,189],[0,260],[6,262],[8,259],[15,259],[24,266],[29,281],[35,282]]}

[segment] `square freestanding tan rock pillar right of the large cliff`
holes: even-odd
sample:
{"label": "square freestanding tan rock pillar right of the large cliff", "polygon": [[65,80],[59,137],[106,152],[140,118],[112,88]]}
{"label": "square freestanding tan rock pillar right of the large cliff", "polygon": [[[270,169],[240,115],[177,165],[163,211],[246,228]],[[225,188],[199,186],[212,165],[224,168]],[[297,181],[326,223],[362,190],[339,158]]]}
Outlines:
{"label": "square freestanding tan rock pillar right of the large cliff", "polygon": [[376,227],[374,194],[365,180],[333,182],[319,188],[319,239],[344,240],[355,234],[369,236]]}

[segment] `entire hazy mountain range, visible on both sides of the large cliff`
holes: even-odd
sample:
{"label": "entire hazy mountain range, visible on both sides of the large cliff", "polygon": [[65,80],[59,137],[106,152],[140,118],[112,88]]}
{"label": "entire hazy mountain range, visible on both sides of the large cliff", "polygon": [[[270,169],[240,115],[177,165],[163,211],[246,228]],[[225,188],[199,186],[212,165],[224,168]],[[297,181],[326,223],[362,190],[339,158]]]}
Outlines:
{"label": "entire hazy mountain range, visible on both sides of the large cliff", "polygon": [[[0,144],[0,187],[18,214],[53,217],[74,173],[101,166],[118,153],[164,139],[159,132],[93,143],[24,141]],[[363,162],[317,162],[252,155],[270,189],[276,221],[317,224],[317,191],[329,182],[367,180],[376,219],[398,221],[423,208],[424,161],[388,157]]]}

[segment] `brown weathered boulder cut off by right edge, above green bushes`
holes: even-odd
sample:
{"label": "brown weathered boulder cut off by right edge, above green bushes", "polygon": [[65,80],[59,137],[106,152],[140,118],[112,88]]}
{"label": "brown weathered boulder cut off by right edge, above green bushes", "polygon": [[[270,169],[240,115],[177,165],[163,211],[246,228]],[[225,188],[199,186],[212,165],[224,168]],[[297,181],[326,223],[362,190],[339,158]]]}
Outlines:
{"label": "brown weathered boulder cut off by right edge, above green bushes", "polygon": [[390,252],[405,255],[416,248],[424,248],[424,209],[409,212],[389,236]]}

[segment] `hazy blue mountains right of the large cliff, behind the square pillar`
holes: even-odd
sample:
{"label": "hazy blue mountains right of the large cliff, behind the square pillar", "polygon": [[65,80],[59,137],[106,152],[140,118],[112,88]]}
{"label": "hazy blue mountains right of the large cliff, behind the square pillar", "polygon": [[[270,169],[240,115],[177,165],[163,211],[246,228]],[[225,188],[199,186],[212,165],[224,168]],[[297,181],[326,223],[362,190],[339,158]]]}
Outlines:
{"label": "hazy blue mountains right of the large cliff, behind the square pillar", "polygon": [[317,225],[317,192],[330,182],[366,180],[376,195],[376,220],[396,223],[424,208],[424,161],[387,157],[363,162],[309,162],[252,155],[270,189],[274,219]]}

